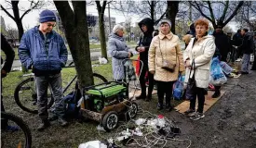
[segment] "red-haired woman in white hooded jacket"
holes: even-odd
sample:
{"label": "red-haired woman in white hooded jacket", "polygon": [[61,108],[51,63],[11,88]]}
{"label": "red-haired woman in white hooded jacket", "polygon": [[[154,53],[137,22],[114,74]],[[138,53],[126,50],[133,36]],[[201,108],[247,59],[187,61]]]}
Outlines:
{"label": "red-haired woman in white hooded jacket", "polygon": [[[203,114],[205,103],[205,90],[209,86],[210,60],[215,52],[214,37],[208,35],[209,22],[206,19],[197,19],[195,21],[195,38],[192,38],[186,50],[183,53],[183,59],[186,68],[185,82],[195,75],[195,96],[190,100],[190,107],[185,112],[191,119],[196,120],[205,117]],[[195,70],[192,68],[192,62],[195,61]],[[191,71],[192,70],[192,71]],[[191,75],[189,76],[191,71]],[[196,96],[198,107],[195,112]]]}

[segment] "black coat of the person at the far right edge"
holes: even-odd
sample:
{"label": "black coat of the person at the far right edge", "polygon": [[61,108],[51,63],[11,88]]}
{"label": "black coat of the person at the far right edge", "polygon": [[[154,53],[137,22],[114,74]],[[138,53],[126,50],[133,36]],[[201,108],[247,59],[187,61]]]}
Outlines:
{"label": "black coat of the person at the far right edge", "polygon": [[254,48],[253,37],[246,33],[242,36],[242,45],[240,47],[243,54],[252,54]]}

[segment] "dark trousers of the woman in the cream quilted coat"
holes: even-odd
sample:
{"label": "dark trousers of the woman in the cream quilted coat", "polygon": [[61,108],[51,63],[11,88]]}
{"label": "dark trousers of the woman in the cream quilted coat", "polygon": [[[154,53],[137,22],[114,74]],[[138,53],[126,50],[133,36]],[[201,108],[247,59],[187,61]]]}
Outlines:
{"label": "dark trousers of the woman in the cream quilted coat", "polygon": [[170,98],[172,96],[172,87],[175,81],[157,81],[157,96],[158,103],[163,104],[164,96],[166,94],[166,104],[170,105]]}

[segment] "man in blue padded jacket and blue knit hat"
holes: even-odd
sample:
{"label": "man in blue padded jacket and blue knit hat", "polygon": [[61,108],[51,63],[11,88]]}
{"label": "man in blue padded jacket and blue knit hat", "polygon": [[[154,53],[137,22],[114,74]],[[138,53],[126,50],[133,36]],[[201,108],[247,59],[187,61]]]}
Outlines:
{"label": "man in blue padded jacket and blue knit hat", "polygon": [[42,120],[38,130],[50,126],[47,113],[47,88],[50,85],[55,100],[54,118],[61,126],[68,123],[64,120],[62,98],[61,68],[67,61],[67,48],[61,35],[53,28],[56,25],[55,14],[44,10],[40,14],[40,25],[26,31],[20,41],[19,56],[22,65],[32,69],[37,89],[38,115]]}

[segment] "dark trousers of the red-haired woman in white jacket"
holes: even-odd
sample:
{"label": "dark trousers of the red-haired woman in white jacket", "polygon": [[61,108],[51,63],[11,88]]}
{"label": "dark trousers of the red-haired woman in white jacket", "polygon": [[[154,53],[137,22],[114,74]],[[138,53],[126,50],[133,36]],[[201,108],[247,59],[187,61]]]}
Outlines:
{"label": "dark trousers of the red-haired woman in white jacket", "polygon": [[204,104],[205,104],[205,89],[204,88],[195,88],[195,96],[192,100],[190,100],[190,109],[195,110],[195,102],[196,102],[196,95],[198,99],[198,113],[203,113],[204,111]]}

